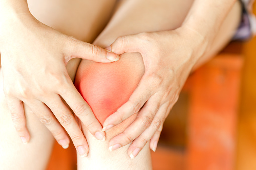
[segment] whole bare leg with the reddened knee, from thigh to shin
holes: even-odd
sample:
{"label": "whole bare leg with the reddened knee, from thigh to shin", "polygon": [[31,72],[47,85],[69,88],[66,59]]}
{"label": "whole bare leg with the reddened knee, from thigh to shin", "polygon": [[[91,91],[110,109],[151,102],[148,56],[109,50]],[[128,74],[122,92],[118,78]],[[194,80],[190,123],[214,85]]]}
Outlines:
{"label": "whole bare leg with the reddened knee, from thigh to shin", "polygon": [[[119,36],[176,29],[182,24],[192,2],[121,1],[110,23],[94,43],[106,47]],[[239,16],[240,8],[236,4],[216,37],[213,51],[207,55],[218,52],[230,40],[238,25]],[[78,68],[75,84],[102,123],[128,100],[130,91],[136,87],[143,72],[143,61],[138,53],[123,54],[117,63],[111,64],[83,60]],[[110,138],[123,132],[134,116],[108,131],[105,142],[96,141],[82,127],[90,151],[88,157],[78,157],[78,169],[151,169],[148,144],[133,160],[127,155],[128,146],[108,151]]]}

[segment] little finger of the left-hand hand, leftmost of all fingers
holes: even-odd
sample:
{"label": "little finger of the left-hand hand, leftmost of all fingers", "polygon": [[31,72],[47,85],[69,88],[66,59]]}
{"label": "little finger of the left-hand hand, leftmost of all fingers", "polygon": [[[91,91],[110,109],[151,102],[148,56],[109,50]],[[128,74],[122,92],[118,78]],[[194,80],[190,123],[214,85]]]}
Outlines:
{"label": "little finger of the left-hand hand, leftmost of all fingers", "polygon": [[7,106],[10,110],[12,121],[18,135],[24,144],[27,144],[30,135],[26,127],[26,117],[24,113],[23,102],[17,98],[6,96]]}

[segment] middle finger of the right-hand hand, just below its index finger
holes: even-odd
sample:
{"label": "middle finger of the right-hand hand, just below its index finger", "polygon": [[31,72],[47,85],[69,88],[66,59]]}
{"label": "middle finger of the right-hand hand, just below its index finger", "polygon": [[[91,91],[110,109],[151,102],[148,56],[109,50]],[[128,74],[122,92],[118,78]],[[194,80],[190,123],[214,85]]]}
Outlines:
{"label": "middle finger of the right-hand hand, just below its index finger", "polygon": [[159,105],[155,104],[157,103],[157,100],[157,98],[152,96],[139,112],[137,118],[124,130],[124,132],[110,140],[109,147],[111,148],[111,151],[114,150],[112,147],[115,144],[119,144],[122,147],[131,143],[150,126],[159,108]]}

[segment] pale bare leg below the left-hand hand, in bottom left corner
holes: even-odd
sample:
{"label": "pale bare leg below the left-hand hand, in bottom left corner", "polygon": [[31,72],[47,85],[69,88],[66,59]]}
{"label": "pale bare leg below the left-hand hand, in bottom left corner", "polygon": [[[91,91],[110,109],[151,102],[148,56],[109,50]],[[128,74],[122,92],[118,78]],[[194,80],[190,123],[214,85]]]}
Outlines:
{"label": "pale bare leg below the left-hand hand, in bottom left corner", "polygon": [[[0,70],[2,75],[2,69]],[[45,126],[25,106],[31,140],[24,145],[13,126],[0,76],[0,167],[1,169],[45,169],[53,137]]]}

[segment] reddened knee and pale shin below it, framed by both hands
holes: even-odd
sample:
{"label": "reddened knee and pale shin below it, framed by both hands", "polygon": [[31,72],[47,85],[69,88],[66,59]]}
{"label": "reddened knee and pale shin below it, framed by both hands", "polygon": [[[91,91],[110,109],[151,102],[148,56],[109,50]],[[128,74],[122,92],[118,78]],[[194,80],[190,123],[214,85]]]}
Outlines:
{"label": "reddened knee and pale shin below it, framed by both hands", "polygon": [[[103,64],[83,60],[78,68],[75,85],[92,108],[96,118],[104,120],[124,104],[137,87],[144,73],[144,64],[139,53],[125,53],[115,63]],[[148,145],[140,157],[131,160],[127,154],[129,145],[109,152],[109,140],[122,133],[136,118],[136,114],[121,124],[106,131],[106,141],[96,140],[82,125],[89,144],[88,157],[78,157],[78,169],[126,169],[131,165],[141,169],[150,166]],[[127,168],[128,169],[128,168]],[[147,168],[150,169],[150,168]]]}

